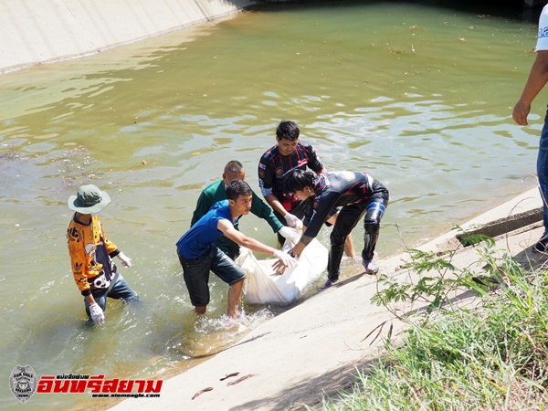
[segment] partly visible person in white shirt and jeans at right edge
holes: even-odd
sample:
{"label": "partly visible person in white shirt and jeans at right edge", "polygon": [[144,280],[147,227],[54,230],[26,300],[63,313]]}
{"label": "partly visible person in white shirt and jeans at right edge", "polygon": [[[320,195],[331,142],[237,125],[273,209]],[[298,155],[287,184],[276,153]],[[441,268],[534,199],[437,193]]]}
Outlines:
{"label": "partly visible person in white shirt and jeans at right edge", "polygon": [[[536,58],[532,63],[529,79],[525,83],[522,97],[514,106],[512,117],[519,125],[527,125],[527,116],[531,111],[532,100],[543,90],[548,82],[548,5],[544,5],[539,18],[539,34],[536,45]],[[543,237],[532,246],[532,251],[548,254],[548,111],[544,117],[539,153],[537,157],[537,176],[539,190],[543,199]]]}

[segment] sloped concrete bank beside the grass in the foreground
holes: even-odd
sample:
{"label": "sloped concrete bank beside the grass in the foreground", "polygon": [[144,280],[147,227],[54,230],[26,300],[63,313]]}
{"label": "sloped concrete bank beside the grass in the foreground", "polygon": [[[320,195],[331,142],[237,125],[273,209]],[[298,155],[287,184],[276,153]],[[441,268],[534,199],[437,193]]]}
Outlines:
{"label": "sloped concrete bank beside the grass in the foreground", "polygon": [[[541,205],[538,190],[532,189],[461,228],[483,234],[482,227],[487,227],[490,232],[500,233],[495,237],[499,257],[509,253],[527,268],[546,265],[546,256],[531,253],[531,246],[543,234],[538,213]],[[514,224],[516,220],[522,225]],[[456,231],[448,232],[420,249],[455,250],[451,262],[456,267],[481,275],[484,270],[478,264],[477,249],[463,247],[457,235]],[[409,256],[402,254],[380,261],[379,266],[398,281],[416,281],[413,272],[402,269],[407,261]],[[260,324],[224,352],[165,381],[160,398],[129,399],[113,409],[256,411],[318,405],[324,395],[332,397],[349,389],[357,370],[375,361],[382,349],[380,339],[373,341],[368,335],[374,334],[380,324],[392,324],[394,335],[404,327],[385,307],[371,303],[376,286],[376,278],[358,274],[319,291]],[[473,293],[463,290],[454,300],[471,302]],[[404,305],[396,308],[401,312],[420,309]]]}

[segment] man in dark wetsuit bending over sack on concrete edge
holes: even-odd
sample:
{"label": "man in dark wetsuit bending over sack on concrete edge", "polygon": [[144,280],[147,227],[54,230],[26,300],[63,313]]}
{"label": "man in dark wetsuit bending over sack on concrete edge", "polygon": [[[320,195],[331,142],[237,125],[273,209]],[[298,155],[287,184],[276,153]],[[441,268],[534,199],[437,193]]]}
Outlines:
{"label": "man in dark wetsuit bending over sack on concrete edge", "polygon": [[364,216],[364,250],[362,263],[367,274],[376,274],[374,266],[374,246],[379,237],[381,218],[388,205],[388,190],[385,185],[362,172],[326,172],[314,175],[299,169],[292,170],[285,177],[286,189],[301,200],[313,197],[314,203],[306,231],[299,243],[290,251],[293,256],[300,253],[318,235],[333,207],[342,206],[330,237],[331,248],[327,263],[328,279],[322,288],[331,287],[341,273],[344,238]]}

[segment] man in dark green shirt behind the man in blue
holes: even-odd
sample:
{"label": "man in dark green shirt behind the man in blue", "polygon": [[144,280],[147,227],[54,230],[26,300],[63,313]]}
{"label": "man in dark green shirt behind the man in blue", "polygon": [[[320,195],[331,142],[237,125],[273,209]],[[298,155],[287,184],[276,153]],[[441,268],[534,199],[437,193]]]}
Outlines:
{"label": "man in dark green shirt behind the man in blue", "polygon": [[[233,160],[227,163],[225,166],[225,172],[223,173],[223,179],[219,180],[213,184],[209,184],[205,187],[204,191],[198,197],[198,202],[196,203],[196,209],[192,216],[192,221],[190,222],[190,227],[194,226],[195,223],[209,211],[211,205],[214,205],[217,201],[222,201],[227,199],[227,192],[225,187],[227,187],[230,182],[233,180],[243,180],[246,177],[246,171],[242,163]],[[282,237],[291,236],[291,231],[289,227],[285,227],[279,222],[278,217],[274,216],[269,205],[266,205],[258,196],[251,192],[251,213],[255,216],[263,218],[269,223],[269,226],[272,227],[272,231],[278,233]],[[237,229],[237,223],[234,225]],[[237,243],[228,239],[225,236],[219,237],[215,245],[217,248],[221,249],[228,257],[235,259],[239,254],[239,246]]]}

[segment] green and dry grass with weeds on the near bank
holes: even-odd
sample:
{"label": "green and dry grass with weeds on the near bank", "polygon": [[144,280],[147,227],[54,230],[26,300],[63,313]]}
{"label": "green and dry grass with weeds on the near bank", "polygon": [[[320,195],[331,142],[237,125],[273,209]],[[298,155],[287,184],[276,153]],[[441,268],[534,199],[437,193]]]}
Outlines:
{"label": "green and dry grass with weeds on the near bank", "polygon": [[[494,241],[470,237],[479,241],[489,279],[475,282],[472,272],[456,269],[454,253],[440,258],[411,250],[415,284],[380,280],[386,287],[374,301],[406,321],[402,342],[396,346],[389,332],[379,362],[323,409],[548,410],[548,270],[527,271],[507,255],[497,260]],[[493,281],[495,291],[480,284]],[[473,308],[448,300],[463,288],[477,292]],[[417,300],[427,302],[427,311],[402,317],[391,307]]]}

